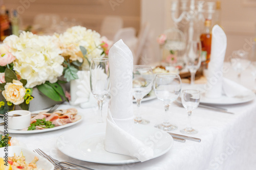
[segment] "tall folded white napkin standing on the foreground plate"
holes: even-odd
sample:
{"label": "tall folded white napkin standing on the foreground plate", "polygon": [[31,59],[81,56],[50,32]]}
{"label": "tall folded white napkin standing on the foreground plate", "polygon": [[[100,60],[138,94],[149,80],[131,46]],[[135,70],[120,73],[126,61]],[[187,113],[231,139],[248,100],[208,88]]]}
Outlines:
{"label": "tall folded white napkin standing on the foreground plate", "polygon": [[122,40],[109,51],[111,102],[106,119],[105,150],[136,157],[153,158],[154,151],[134,136],[133,55]]}

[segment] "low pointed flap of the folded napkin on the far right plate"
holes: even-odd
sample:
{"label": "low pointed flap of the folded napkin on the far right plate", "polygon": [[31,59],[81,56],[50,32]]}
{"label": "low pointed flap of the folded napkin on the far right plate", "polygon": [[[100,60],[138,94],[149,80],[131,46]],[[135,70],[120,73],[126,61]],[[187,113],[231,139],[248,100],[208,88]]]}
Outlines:
{"label": "low pointed flap of the folded napkin on the far right plate", "polygon": [[222,81],[223,94],[229,96],[230,98],[247,96],[251,93],[251,90],[248,88],[229,79],[223,78]]}

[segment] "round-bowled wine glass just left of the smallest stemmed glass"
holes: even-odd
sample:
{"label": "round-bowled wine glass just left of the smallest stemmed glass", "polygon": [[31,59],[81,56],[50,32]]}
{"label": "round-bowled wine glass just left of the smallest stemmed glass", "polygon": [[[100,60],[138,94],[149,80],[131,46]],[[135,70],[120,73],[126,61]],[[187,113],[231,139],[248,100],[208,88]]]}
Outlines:
{"label": "round-bowled wine glass just left of the smallest stemmed glass", "polygon": [[181,79],[176,74],[158,74],[154,81],[154,92],[157,98],[164,103],[165,118],[162,124],[156,127],[164,131],[173,131],[178,127],[168,120],[168,109],[170,104],[179,98],[181,91]]}

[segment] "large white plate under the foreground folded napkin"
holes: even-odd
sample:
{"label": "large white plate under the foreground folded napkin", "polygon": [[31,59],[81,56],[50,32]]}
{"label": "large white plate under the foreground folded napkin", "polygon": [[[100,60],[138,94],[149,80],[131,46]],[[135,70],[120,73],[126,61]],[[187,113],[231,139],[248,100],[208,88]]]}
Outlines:
{"label": "large white plate under the foreground folded napkin", "polygon": [[[57,148],[63,154],[82,161],[115,165],[140,162],[131,156],[105,151],[105,128],[106,124],[102,123],[88,125],[82,133],[80,129],[65,132],[58,137]],[[135,137],[145,144],[154,144],[154,158],[168,152],[174,142],[168,133],[146,125],[135,124]]]}

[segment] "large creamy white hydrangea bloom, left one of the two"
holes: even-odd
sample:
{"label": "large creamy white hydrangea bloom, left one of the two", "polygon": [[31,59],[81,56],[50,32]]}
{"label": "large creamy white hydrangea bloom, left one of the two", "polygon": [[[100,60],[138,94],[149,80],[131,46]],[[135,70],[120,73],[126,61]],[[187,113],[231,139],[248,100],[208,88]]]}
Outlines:
{"label": "large creamy white hydrangea bloom, left one of the two", "polygon": [[55,83],[62,75],[64,58],[60,56],[62,51],[55,38],[23,32],[19,37],[7,37],[4,43],[16,57],[13,69],[28,81],[27,88],[44,84],[46,81]]}

